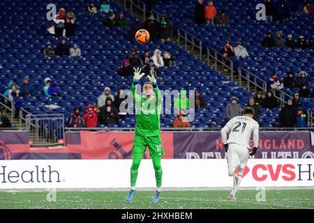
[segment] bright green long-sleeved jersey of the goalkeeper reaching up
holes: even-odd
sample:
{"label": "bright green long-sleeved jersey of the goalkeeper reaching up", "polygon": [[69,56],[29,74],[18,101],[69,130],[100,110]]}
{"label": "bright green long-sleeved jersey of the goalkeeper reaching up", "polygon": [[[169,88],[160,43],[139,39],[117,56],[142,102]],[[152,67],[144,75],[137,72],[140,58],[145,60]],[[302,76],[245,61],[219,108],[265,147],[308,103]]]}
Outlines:
{"label": "bright green long-sleeved jersey of the goalkeeper reaching up", "polygon": [[135,135],[142,137],[160,136],[160,112],[163,98],[157,88],[154,96],[147,99],[136,92],[137,86],[132,84],[131,93],[135,105],[136,125]]}

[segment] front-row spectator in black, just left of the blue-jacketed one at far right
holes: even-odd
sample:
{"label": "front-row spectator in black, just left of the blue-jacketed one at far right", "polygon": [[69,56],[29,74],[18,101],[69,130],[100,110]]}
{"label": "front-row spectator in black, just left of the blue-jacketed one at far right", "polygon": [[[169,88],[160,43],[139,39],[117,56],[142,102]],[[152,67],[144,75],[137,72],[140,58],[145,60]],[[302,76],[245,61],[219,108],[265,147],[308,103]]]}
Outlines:
{"label": "front-row spectator in black, just left of the blue-jacketed one at far right", "polygon": [[292,106],[292,100],[287,100],[287,105],[279,113],[279,126],[294,127],[296,123],[296,109]]}

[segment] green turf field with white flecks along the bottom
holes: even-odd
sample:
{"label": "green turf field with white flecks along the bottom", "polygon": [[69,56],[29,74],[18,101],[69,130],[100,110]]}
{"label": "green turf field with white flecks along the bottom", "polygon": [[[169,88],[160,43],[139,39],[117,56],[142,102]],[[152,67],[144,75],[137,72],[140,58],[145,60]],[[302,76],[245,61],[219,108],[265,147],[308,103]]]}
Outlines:
{"label": "green turf field with white flecks along the bottom", "polygon": [[57,191],[49,202],[47,192],[0,192],[0,208],[314,208],[314,190],[266,190],[259,202],[255,190],[240,190],[236,201],[227,201],[227,190],[163,191],[157,204],[153,194],[139,191],[126,202],[127,192]]}

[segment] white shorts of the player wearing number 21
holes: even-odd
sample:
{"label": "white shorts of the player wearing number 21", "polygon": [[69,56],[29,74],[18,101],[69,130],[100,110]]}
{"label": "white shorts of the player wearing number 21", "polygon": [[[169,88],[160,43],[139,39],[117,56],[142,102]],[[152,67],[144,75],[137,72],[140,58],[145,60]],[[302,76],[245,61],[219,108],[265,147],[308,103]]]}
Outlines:
{"label": "white shorts of the player wearing number 21", "polygon": [[248,162],[248,154],[248,148],[245,146],[229,144],[229,149],[227,151],[228,169],[235,169],[236,167],[244,169]]}

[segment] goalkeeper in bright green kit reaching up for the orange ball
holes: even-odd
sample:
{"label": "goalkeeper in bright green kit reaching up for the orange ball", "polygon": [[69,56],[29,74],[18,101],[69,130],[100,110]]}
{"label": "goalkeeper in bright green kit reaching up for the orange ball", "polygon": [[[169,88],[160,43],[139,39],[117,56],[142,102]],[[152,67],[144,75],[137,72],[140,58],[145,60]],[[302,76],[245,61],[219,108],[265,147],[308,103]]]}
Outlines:
{"label": "goalkeeper in bright green kit reaching up for the orange ball", "polygon": [[136,194],[135,183],[138,174],[138,168],[142,156],[149,148],[149,155],[153,160],[156,177],[156,192],[154,194],[153,202],[159,201],[161,192],[161,178],[163,170],[161,169],[161,156],[165,155],[160,139],[160,112],[163,106],[163,98],[157,87],[156,77],[153,70],[147,75],[149,82],[145,82],[142,89],[142,95],[136,92],[137,85],[140,79],[145,75],[140,74],[142,69],[137,68],[134,72],[133,84],[131,86],[131,95],[135,103],[136,126],[133,141],[133,162],[130,168],[130,184],[131,189],[126,197],[126,201],[132,201]]}

